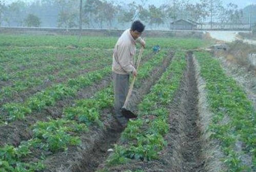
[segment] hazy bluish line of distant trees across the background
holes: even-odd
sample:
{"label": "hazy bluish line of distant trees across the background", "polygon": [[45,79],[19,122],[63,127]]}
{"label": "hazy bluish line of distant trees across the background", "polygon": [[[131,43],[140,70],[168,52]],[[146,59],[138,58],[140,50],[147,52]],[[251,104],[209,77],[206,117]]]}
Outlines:
{"label": "hazy bluish line of distant trees across the background", "polygon": [[[80,0],[35,0],[32,3],[16,1],[6,4],[0,0],[0,26],[77,28],[80,16]],[[251,5],[251,11],[256,6]],[[248,11],[245,11],[248,15]],[[193,20],[203,24],[214,22],[242,24],[244,11],[235,4],[223,5],[221,0],[174,0],[155,6],[147,0],[129,4],[119,1],[83,0],[82,20],[84,28],[120,28],[140,19],[151,29],[169,24],[176,19]],[[256,19],[255,19],[256,22]]]}

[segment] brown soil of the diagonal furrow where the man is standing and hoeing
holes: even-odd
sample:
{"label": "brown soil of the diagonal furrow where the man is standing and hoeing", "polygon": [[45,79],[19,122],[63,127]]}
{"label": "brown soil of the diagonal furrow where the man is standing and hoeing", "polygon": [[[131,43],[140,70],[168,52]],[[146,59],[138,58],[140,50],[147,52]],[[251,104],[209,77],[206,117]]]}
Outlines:
{"label": "brown soil of the diagonal furrow where the man is standing and hoeing", "polygon": [[[159,79],[168,67],[171,57],[164,60],[161,66],[156,67],[150,77],[141,81],[140,87],[135,88],[130,107],[135,107],[143,95],[147,94],[152,85]],[[112,107],[102,112],[104,128],[93,127],[89,133],[81,136],[81,147],[70,147],[66,155],[56,154],[46,160],[45,171],[95,171],[109,155],[107,150],[113,148],[122,133],[122,128],[112,117]]]}

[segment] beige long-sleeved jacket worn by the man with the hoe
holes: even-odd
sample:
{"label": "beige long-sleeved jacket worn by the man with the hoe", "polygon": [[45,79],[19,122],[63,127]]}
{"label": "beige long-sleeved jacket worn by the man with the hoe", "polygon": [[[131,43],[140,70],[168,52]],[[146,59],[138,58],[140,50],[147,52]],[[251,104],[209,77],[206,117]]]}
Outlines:
{"label": "beige long-sleeved jacket worn by the man with the hoe", "polygon": [[[141,37],[136,41],[144,41]],[[112,62],[112,71],[117,74],[127,75],[135,70],[133,65],[133,56],[135,55],[135,40],[131,36],[130,29],[124,31],[124,33],[117,40]]]}

